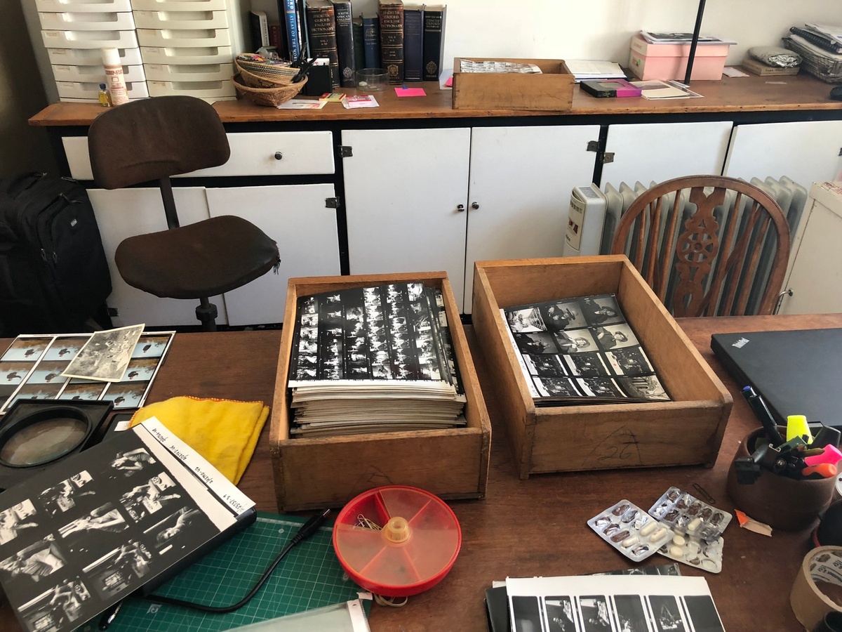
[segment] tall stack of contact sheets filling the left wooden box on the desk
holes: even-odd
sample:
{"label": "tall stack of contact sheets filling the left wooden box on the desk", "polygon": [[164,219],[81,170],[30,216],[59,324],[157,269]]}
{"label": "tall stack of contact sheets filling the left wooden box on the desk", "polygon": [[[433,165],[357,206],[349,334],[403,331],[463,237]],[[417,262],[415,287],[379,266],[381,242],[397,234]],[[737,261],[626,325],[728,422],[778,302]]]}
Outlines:
{"label": "tall stack of contact sheets filling the left wooden box on the desk", "polygon": [[437,288],[392,283],[301,297],[290,434],[463,426],[458,375]]}

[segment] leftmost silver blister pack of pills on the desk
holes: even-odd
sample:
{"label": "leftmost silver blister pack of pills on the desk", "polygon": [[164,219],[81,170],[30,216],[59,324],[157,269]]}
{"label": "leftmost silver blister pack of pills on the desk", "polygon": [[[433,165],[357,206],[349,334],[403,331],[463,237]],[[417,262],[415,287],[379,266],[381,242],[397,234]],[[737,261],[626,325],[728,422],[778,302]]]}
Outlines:
{"label": "leftmost silver blister pack of pills on the desk", "polygon": [[632,501],[618,501],[588,521],[600,538],[639,562],[669,543],[674,533],[669,525],[659,524]]}

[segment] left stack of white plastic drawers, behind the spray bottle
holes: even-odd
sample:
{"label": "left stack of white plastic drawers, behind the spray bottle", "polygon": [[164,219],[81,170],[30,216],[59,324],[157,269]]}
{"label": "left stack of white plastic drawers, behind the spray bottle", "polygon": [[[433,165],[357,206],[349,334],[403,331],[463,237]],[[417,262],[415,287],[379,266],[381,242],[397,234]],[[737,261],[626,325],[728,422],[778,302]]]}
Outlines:
{"label": "left stack of white plastic drawers, behind the spray bottle", "polygon": [[103,48],[120,51],[129,99],[149,96],[130,0],[35,0],[35,6],[61,101],[98,100]]}

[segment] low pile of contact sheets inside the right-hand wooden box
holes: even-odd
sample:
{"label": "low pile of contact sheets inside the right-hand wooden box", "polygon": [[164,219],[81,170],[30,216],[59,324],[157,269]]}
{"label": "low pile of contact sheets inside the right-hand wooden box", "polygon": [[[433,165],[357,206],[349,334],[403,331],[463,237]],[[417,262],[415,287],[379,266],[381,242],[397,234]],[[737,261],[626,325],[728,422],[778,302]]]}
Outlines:
{"label": "low pile of contact sheets inside the right-hand wooden box", "polygon": [[614,294],[501,310],[536,405],[669,399]]}

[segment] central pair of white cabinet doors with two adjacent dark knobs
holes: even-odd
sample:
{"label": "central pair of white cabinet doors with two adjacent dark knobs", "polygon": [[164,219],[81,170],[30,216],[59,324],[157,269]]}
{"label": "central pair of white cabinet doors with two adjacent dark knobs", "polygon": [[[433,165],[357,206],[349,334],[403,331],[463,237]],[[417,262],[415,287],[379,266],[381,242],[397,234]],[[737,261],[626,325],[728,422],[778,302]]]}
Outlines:
{"label": "central pair of white cabinet doors with two adjacent dark knobs", "polygon": [[471,313],[476,260],[560,256],[599,126],[343,131],[351,274],[445,270]]}

